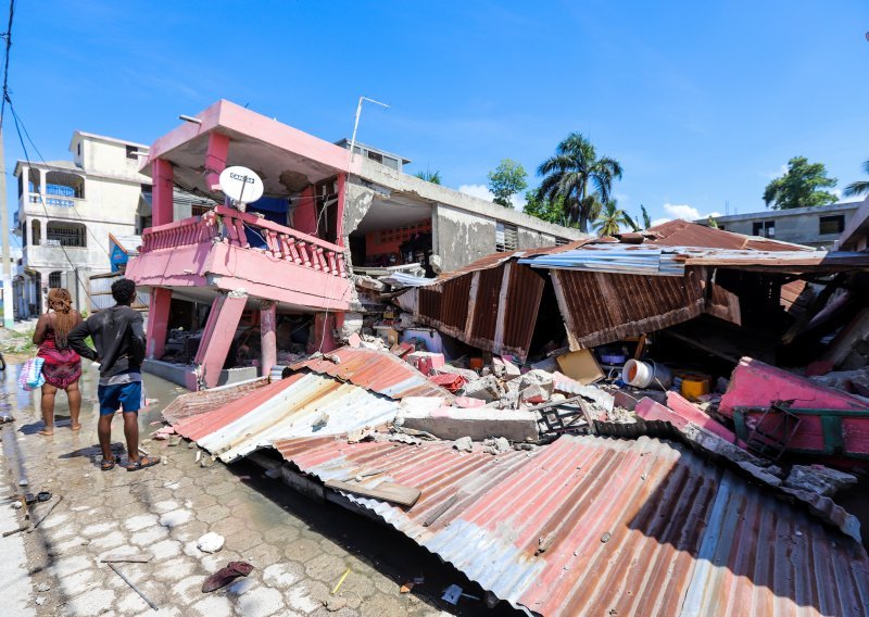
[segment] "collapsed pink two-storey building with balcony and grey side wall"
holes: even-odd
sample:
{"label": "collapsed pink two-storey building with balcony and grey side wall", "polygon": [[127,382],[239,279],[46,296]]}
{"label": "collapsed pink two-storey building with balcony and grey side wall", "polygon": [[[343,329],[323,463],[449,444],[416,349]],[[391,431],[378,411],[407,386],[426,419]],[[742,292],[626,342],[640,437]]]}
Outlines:
{"label": "collapsed pink two-storey building with balcony and grey side wall", "polygon": [[[260,351],[241,378],[266,376],[285,324],[308,319],[306,351],[326,352],[349,314],[358,322],[354,266],[420,263],[432,276],[581,237],[404,174],[401,158],[356,151],[224,100],[153,143],[141,169],[153,178],[152,226],[126,270],[151,290],[146,369],[212,388],[232,379],[232,350],[250,343]],[[219,174],[231,165],[263,179],[261,202],[175,219],[174,187],[223,203]],[[243,324],[259,329],[256,340],[239,341]],[[196,331],[189,357],[163,362],[171,330]]]}

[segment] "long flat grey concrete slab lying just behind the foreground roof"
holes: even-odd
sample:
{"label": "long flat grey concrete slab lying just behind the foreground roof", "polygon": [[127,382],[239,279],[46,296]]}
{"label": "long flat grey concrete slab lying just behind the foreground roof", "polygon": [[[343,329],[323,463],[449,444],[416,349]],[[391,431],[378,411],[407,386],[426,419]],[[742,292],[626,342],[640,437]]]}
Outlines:
{"label": "long flat grey concrete slab lying just behind the foreground roof", "polygon": [[425,431],[440,439],[470,437],[474,441],[503,437],[508,441],[536,441],[538,415],[513,410],[462,410],[441,407],[434,412],[419,407],[400,411],[395,424],[402,429]]}

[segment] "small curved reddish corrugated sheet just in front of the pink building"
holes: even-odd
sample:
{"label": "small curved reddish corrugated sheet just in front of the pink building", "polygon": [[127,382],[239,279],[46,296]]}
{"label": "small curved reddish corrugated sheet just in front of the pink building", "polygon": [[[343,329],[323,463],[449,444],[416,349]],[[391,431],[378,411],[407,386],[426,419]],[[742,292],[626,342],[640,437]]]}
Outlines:
{"label": "small curved reddish corrugated sheet just in front of the pink building", "polygon": [[297,362],[290,368],[306,368],[329,375],[396,400],[405,396],[443,396],[448,401],[453,400],[450,392],[438,388],[416,368],[391,353],[344,347],[326,355],[336,357],[338,362],[327,360],[326,356],[312,357]]}

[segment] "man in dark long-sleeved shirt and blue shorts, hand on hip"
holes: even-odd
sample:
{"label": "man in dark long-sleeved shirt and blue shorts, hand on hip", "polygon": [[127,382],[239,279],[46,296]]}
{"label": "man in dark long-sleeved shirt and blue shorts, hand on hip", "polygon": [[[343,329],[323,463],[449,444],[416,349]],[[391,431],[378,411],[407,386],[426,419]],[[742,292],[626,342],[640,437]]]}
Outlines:
{"label": "man in dark long-sleeved shirt and blue shorts, hand on hip", "polygon": [[[139,456],[139,408],[142,399],[141,364],[144,360],[142,316],[130,308],[136,298],[136,284],[122,278],[112,285],[115,304],[80,323],[67,336],[70,347],[78,355],[100,363],[100,420],[97,433],[102,450],[101,469],[113,469],[112,418],[124,411],[124,436],[127,439],[127,471],[156,465],[159,456]],[[91,337],[97,350],[85,339]]]}

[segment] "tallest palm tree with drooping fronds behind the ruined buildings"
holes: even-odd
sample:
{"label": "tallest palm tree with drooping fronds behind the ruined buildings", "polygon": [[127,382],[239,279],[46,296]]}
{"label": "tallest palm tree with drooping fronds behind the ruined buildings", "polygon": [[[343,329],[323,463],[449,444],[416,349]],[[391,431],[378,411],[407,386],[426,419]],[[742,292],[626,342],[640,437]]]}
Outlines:
{"label": "tallest palm tree with drooping fronds behind the ruined buildings", "polygon": [[555,156],[541,163],[537,173],[543,177],[538,199],[563,198],[568,219],[578,222],[579,229],[587,234],[589,221],[595,218],[595,202],[609,200],[613,180],[621,179],[621,165],[608,156],[599,159],[591,141],[571,133],[558,143]]}

